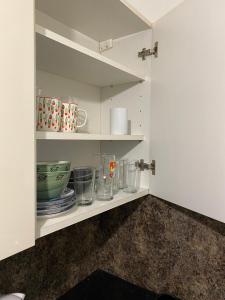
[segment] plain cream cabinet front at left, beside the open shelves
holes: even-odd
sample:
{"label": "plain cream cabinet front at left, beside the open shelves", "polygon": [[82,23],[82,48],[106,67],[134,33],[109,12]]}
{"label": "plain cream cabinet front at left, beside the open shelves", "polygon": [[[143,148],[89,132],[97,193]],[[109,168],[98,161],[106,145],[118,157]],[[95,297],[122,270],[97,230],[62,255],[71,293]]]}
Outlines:
{"label": "plain cream cabinet front at left, beside the open shelves", "polygon": [[0,2],[0,259],[34,245],[34,3]]}

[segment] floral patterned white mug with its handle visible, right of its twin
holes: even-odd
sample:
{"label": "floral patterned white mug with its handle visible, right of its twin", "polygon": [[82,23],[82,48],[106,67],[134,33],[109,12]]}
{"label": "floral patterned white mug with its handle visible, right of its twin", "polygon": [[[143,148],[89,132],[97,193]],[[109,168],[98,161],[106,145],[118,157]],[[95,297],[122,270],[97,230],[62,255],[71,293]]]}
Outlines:
{"label": "floral patterned white mug with its handle visible, right of its twin", "polygon": [[[84,113],[83,122],[79,122],[80,112]],[[84,127],[87,123],[87,112],[78,108],[75,103],[62,103],[61,126],[62,132],[76,132],[77,128]]]}

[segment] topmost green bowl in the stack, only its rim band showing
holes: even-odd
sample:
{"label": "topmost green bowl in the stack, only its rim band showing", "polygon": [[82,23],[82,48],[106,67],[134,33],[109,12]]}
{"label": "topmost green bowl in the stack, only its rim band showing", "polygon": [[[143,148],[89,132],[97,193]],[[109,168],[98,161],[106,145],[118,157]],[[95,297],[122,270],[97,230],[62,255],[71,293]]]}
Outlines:
{"label": "topmost green bowl in the stack, only its rim band showing", "polygon": [[69,171],[70,161],[43,161],[37,163],[37,172]]}

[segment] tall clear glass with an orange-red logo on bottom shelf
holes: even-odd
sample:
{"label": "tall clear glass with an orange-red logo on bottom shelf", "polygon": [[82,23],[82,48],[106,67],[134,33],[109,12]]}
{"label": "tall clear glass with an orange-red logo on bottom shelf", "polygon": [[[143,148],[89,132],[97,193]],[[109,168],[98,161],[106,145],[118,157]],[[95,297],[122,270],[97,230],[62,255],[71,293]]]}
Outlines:
{"label": "tall clear glass with an orange-red logo on bottom shelf", "polygon": [[116,161],[114,154],[99,155],[98,179],[96,182],[96,198],[98,200],[113,199],[113,182]]}

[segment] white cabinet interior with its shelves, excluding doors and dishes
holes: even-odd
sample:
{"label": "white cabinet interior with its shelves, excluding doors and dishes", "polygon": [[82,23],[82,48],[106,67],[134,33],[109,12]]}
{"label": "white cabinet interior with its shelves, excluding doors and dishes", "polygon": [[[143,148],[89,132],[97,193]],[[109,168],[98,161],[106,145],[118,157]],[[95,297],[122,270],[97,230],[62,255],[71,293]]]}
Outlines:
{"label": "white cabinet interior with its shelves, excluding doors and dishes", "polygon": [[[68,27],[68,22],[59,22],[62,15],[60,11],[56,13],[56,6],[51,9],[53,2],[37,2],[37,7],[42,10],[36,11],[37,88],[42,90],[43,95],[62,98],[75,96],[79,106],[88,111],[88,124],[80,133],[37,132],[38,160],[66,159],[72,162],[72,166],[95,166],[96,154],[99,152],[115,153],[117,158],[150,159],[150,61],[142,62],[138,58],[138,51],[151,46],[151,30],[148,24],[131,13],[120,1],[96,1],[98,5],[105,2],[109,4],[108,9],[122,5],[125,11],[121,17],[131,22],[132,14],[136,25],[132,29],[133,34],[123,36],[124,28],[121,28],[122,32],[114,32],[114,27],[107,28],[106,20],[99,20],[95,16],[92,20],[94,25],[87,24],[89,28],[86,28],[85,33],[93,30],[92,25],[98,27],[97,22],[100,22],[102,29],[99,37],[119,37],[113,40],[112,49],[102,53],[98,41],[77,32],[76,28]],[[92,2],[67,1],[67,14],[73,11],[74,5],[81,9],[88,3]],[[128,19],[125,12],[128,13]],[[53,18],[54,14],[57,20]],[[137,19],[139,21],[135,23]],[[128,108],[131,121],[129,135],[110,135],[109,113],[113,106]],[[113,201],[95,201],[89,207],[75,207],[65,216],[39,219],[36,238],[148,195],[149,171],[142,175],[141,189],[137,193],[121,192]]]}

